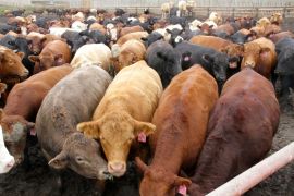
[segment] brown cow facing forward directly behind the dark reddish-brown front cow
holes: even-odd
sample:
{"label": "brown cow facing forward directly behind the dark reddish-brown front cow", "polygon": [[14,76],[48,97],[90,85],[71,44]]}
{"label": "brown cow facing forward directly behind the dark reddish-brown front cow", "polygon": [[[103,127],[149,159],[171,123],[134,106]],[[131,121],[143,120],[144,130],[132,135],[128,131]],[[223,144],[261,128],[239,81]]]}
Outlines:
{"label": "brown cow facing forward directly behind the dark reddish-brown front cow", "polygon": [[275,46],[271,40],[261,37],[244,45],[241,69],[252,66],[259,74],[270,78],[275,64]]}

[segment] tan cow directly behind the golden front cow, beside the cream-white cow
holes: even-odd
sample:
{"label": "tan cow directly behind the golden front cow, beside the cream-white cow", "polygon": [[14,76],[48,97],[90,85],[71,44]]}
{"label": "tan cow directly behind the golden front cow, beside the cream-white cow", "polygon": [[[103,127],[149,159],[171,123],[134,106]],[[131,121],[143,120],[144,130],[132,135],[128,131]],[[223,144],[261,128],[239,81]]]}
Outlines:
{"label": "tan cow directly behind the golden front cow, beside the cream-white cow", "polygon": [[[125,66],[136,63],[145,59],[146,48],[136,39],[131,39],[120,47],[118,57],[111,58],[114,71],[118,73]],[[113,56],[113,54],[112,54]]]}

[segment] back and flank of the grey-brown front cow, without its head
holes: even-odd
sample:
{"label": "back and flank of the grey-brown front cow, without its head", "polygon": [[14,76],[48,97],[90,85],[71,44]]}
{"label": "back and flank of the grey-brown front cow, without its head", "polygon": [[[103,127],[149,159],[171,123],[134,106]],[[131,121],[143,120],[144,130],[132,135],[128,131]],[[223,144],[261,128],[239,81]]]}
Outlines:
{"label": "back and flank of the grey-brown front cow, without its head", "polygon": [[62,137],[75,131],[77,123],[91,118],[110,82],[101,68],[85,66],[74,70],[49,91],[36,119],[39,143],[49,156],[60,152]]}

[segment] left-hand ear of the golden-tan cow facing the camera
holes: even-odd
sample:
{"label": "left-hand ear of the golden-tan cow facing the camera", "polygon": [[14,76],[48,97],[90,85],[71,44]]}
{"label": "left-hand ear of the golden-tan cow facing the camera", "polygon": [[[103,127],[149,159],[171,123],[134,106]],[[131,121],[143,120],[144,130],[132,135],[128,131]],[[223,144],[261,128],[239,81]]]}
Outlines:
{"label": "left-hand ear of the golden-tan cow facing the camera", "polygon": [[98,139],[100,136],[99,121],[78,123],[76,130],[83,132],[88,138]]}

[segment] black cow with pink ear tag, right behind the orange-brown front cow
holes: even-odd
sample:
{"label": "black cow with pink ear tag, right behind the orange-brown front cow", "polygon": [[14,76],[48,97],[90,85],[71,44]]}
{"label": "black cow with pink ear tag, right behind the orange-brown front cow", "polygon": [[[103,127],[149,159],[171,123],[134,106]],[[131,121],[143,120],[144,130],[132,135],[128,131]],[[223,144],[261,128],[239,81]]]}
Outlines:
{"label": "black cow with pink ear tag, right behind the orange-brown front cow", "polygon": [[226,81],[229,57],[226,53],[183,41],[175,49],[182,56],[182,69],[186,70],[194,64],[203,65],[218,82],[219,91]]}

